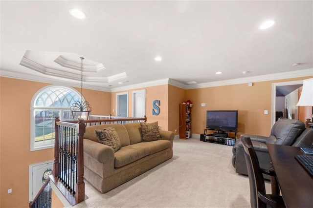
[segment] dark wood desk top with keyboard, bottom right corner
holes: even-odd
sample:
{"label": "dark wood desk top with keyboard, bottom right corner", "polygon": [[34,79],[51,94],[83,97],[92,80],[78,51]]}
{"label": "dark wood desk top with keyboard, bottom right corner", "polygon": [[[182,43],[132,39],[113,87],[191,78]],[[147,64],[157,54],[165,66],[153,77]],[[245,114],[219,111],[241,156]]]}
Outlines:
{"label": "dark wood desk top with keyboard, bottom right corner", "polygon": [[286,207],[313,208],[313,178],[294,158],[305,153],[299,147],[267,146]]}

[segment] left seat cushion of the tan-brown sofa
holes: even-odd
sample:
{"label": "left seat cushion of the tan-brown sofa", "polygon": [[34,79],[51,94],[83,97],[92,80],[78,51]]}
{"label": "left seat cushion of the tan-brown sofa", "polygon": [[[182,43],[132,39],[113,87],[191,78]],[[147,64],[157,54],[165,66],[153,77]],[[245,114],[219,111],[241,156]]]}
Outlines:
{"label": "left seat cushion of the tan-brown sofa", "polygon": [[114,167],[126,166],[149,155],[149,153],[150,150],[147,146],[138,146],[138,144],[123,146],[114,153]]}

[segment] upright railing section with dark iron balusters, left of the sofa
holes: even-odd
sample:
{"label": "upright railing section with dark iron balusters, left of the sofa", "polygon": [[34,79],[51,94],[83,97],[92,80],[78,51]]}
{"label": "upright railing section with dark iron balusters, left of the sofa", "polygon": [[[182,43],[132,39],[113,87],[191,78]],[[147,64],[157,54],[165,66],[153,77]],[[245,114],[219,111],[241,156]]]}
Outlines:
{"label": "upright railing section with dark iron balusters, left of the sofa", "polygon": [[83,119],[77,123],[61,122],[58,117],[55,118],[53,182],[71,205],[85,199],[84,133]]}

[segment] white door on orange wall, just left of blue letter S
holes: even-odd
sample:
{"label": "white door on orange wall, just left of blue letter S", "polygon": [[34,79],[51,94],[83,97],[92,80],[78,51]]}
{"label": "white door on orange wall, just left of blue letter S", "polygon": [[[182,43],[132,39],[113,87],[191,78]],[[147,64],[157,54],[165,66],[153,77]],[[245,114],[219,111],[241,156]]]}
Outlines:
{"label": "white door on orange wall, just left of blue letter S", "polygon": [[133,91],[133,117],[143,118],[146,116],[146,90]]}

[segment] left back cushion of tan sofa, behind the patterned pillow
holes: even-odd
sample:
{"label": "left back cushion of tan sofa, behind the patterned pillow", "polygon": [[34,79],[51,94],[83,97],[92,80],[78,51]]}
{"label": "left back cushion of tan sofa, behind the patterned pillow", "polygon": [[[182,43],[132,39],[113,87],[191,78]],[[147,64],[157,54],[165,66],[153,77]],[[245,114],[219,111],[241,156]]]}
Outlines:
{"label": "left back cushion of tan sofa, behind the patterned pillow", "polygon": [[130,139],[128,136],[127,129],[125,128],[124,125],[121,125],[121,124],[104,124],[104,125],[87,126],[85,134],[84,134],[84,139],[89,139],[89,140],[92,140],[94,142],[98,142],[98,138],[97,138],[97,135],[94,133],[94,130],[95,129],[103,129],[103,128],[107,128],[110,126],[113,126],[113,128],[115,128],[115,130],[118,134],[119,140],[121,142],[121,146],[130,145]]}

